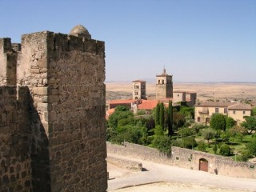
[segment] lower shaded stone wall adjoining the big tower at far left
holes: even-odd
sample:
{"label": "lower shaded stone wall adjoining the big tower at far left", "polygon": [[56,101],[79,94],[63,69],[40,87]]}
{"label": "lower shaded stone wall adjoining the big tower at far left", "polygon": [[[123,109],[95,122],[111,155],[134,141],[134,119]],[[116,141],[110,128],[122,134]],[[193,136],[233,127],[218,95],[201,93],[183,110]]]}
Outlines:
{"label": "lower shaded stone wall adjoining the big tower at far left", "polygon": [[30,130],[27,91],[0,87],[0,191],[30,191]]}

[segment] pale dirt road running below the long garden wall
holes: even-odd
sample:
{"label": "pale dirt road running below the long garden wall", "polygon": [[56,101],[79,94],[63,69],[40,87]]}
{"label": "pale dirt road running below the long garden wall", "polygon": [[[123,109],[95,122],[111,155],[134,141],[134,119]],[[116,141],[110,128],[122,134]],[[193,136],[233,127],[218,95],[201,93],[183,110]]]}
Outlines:
{"label": "pale dirt road running below the long garden wall", "polygon": [[[114,154],[108,154],[116,158],[125,158]],[[187,170],[174,166],[166,166],[154,162],[141,161],[134,158],[125,158],[142,162],[145,171],[126,170],[117,165],[108,165],[110,178],[108,191],[255,191],[256,180],[245,178],[230,178],[221,175],[209,174],[198,170]],[[158,184],[139,186],[146,183],[159,182]],[[178,183],[178,184],[177,184]],[[138,186],[134,190],[126,186]],[[182,186],[182,190],[177,188]],[[153,190],[150,190],[151,189]],[[168,188],[169,187],[169,188]],[[174,190],[176,187],[178,190]],[[142,189],[140,189],[142,188]],[[147,189],[146,189],[147,188]],[[192,190],[192,189],[195,190]],[[172,189],[172,190],[170,190]],[[201,190],[200,190],[201,189]],[[226,190],[225,190],[226,189]]]}

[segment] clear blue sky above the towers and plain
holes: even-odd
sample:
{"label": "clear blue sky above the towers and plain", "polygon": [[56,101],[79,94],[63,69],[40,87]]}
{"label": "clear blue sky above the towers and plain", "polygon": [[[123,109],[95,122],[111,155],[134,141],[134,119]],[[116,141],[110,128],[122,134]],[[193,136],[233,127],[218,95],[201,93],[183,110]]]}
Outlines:
{"label": "clear blue sky above the towers and plain", "polygon": [[256,82],[256,0],[0,0],[0,38],[82,24],[106,42],[106,81]]}

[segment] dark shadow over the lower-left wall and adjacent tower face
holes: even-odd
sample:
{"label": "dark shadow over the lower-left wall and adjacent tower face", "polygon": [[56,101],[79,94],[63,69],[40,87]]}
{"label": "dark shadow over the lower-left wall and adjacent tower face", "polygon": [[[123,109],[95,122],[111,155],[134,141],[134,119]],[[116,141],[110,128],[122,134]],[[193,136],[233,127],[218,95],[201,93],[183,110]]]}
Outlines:
{"label": "dark shadow over the lower-left wall and adjacent tower face", "polygon": [[0,87],[0,191],[50,191],[49,142],[28,87]]}

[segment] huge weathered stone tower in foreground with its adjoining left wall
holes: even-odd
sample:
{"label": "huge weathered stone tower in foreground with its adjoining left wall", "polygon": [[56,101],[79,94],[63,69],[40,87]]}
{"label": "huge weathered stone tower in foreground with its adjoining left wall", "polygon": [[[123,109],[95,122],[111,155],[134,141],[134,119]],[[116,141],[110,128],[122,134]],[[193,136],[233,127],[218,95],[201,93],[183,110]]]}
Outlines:
{"label": "huge weathered stone tower in foreground with its adjoining left wall", "polygon": [[106,191],[104,81],[83,26],[0,39],[0,191]]}

